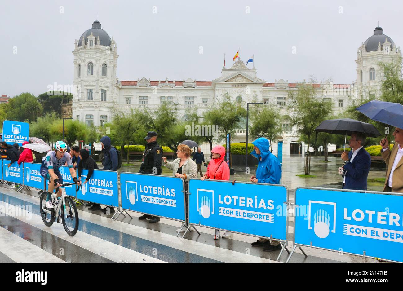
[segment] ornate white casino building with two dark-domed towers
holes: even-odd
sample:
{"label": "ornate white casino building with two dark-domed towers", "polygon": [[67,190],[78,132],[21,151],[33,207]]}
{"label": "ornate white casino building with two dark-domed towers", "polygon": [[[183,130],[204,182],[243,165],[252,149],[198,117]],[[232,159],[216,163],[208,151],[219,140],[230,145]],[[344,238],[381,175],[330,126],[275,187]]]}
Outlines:
{"label": "ornate white casino building with two dark-domed towers", "polygon": [[[88,125],[99,126],[110,121],[112,108],[156,109],[163,102],[179,104],[183,119],[186,119],[185,110],[196,106],[202,116],[202,111],[208,109],[215,98],[220,98],[225,92],[234,98],[242,98],[245,102],[251,102],[256,97],[265,104],[276,104],[281,114],[290,114],[286,107],[287,95],[297,87],[297,83],[289,83],[283,79],[268,83],[257,76],[254,67],[248,69],[239,59],[230,68],[223,67],[221,75],[211,81],[190,78],[152,81],[144,77],[137,81],[119,81],[116,77],[116,42],[101,28],[99,21],[94,21],[91,29],[85,31],[78,42],[75,41],[73,54],[73,83],[80,88],[73,98],[73,118]],[[318,96],[331,98],[335,112],[344,110],[354,98],[378,94],[380,72],[377,62],[401,55],[400,48],[396,49],[394,42],[383,34],[380,27],[376,27],[374,35],[359,47],[357,54],[356,82],[351,85],[332,84],[328,81],[314,84]],[[288,123],[282,126],[280,140],[283,141],[283,154],[302,154],[303,144],[296,143],[299,139],[296,129],[291,128]],[[238,130],[233,142],[245,142],[245,135],[245,129]],[[203,150],[209,152],[207,146]],[[277,146],[274,145],[273,153],[276,152]]]}

